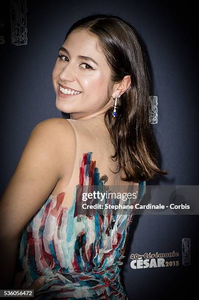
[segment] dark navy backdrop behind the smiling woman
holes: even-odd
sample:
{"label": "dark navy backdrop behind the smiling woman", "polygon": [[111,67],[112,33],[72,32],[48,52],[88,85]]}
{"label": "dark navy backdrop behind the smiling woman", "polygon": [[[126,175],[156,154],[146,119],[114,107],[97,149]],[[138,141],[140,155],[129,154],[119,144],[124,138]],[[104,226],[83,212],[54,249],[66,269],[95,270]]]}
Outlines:
{"label": "dark navy backdrop behind the smiling woman", "polygon": [[[10,2],[0,2],[0,141],[2,195],[33,127],[52,117],[51,72],[70,25],[92,13],[130,22],[147,45],[158,123],[152,125],[160,163],[170,174],[147,184],[198,185],[199,1],[27,1],[27,45],[11,44]],[[2,23],[0,23],[2,24]],[[0,196],[1,196],[0,195]],[[14,200],[14,199],[13,199]],[[135,216],[122,268],[130,300],[192,298],[197,289],[198,216]],[[182,265],[182,238],[191,239],[191,264]],[[132,253],[178,251],[179,266],[132,269]],[[174,259],[176,260],[176,258]],[[194,275],[194,271],[196,271]]]}

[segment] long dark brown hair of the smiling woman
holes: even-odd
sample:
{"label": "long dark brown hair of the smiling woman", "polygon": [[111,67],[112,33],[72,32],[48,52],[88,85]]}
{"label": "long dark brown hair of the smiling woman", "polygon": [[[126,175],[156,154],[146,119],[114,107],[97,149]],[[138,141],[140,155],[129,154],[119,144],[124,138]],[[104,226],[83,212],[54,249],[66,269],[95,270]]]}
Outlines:
{"label": "long dark brown hair of the smiling woman", "polygon": [[[149,93],[151,78],[147,55],[135,28],[118,16],[92,14],[74,23],[67,36],[78,29],[94,34],[111,69],[111,81],[119,83],[124,76],[131,76],[131,86],[117,100],[117,116],[113,109],[105,113],[111,143],[118,160],[118,170],[124,181],[149,180],[154,175],[167,175],[157,166],[157,147],[149,121]],[[65,41],[64,40],[64,41]],[[108,99],[111,99],[111,87]]]}

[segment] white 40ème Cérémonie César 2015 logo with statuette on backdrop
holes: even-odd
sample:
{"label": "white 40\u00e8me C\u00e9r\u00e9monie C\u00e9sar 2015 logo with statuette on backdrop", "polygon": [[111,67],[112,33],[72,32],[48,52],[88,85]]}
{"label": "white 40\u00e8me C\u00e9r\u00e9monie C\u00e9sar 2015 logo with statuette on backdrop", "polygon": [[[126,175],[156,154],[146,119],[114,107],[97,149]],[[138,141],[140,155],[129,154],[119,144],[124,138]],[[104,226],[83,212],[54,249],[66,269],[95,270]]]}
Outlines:
{"label": "white 40\u00e8me C\u00e9r\u00e9monie C\u00e9sar 2015 logo with statuette on backdrop", "polygon": [[[145,252],[144,254],[132,253],[130,266],[132,269],[178,267],[180,263],[179,252]],[[182,265],[191,265],[191,239],[182,239]]]}

